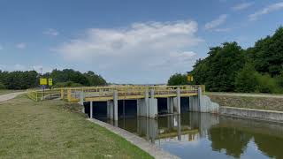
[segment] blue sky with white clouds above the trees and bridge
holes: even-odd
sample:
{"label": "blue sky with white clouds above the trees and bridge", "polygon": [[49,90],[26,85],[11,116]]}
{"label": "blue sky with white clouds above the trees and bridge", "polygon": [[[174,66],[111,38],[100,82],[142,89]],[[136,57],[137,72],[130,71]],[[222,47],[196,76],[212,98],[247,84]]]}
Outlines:
{"label": "blue sky with white clouds above the trees and bridge", "polygon": [[210,47],[247,49],[282,24],[282,0],[0,0],[0,70],[165,83]]}

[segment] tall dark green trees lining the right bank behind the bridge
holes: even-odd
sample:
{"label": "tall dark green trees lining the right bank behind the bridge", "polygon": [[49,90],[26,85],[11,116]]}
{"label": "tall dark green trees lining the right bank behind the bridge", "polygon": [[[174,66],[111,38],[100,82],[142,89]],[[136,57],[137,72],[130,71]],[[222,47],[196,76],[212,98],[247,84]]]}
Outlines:
{"label": "tall dark green trees lining the right bank behind the bridge", "polygon": [[[209,91],[283,93],[283,27],[249,49],[237,42],[210,48],[191,73],[193,84],[204,84]],[[174,74],[168,85],[186,84],[186,77]]]}

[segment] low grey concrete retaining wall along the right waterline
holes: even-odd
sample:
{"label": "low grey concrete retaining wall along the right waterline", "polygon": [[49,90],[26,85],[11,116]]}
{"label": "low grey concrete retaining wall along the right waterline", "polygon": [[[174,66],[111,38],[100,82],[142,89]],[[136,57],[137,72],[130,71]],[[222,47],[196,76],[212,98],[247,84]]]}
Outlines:
{"label": "low grey concrete retaining wall along the right waterline", "polygon": [[283,112],[282,111],[220,107],[219,113],[221,115],[248,117],[248,118],[283,123]]}

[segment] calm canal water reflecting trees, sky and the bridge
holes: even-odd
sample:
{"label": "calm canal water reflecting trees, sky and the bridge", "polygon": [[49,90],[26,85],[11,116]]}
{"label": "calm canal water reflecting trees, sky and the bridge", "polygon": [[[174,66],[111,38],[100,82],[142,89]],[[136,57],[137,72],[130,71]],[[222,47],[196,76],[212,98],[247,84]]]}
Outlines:
{"label": "calm canal water reflecting trees, sky and the bridge", "polygon": [[187,112],[121,117],[116,125],[180,158],[283,158],[283,125],[263,121]]}

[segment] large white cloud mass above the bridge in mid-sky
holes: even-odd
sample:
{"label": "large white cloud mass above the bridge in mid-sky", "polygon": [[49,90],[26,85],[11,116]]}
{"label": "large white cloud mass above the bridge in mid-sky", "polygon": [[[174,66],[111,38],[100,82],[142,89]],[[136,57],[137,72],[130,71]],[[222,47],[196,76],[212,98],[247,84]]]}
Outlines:
{"label": "large white cloud mass above the bridge in mid-sky", "polygon": [[124,28],[90,28],[55,50],[66,60],[93,64],[96,70],[108,74],[129,77],[130,72],[149,72],[158,69],[155,66],[160,64],[168,70],[158,73],[168,76],[192,65],[195,53],[190,50],[203,42],[195,35],[197,30],[195,21],[184,20],[134,23]]}

